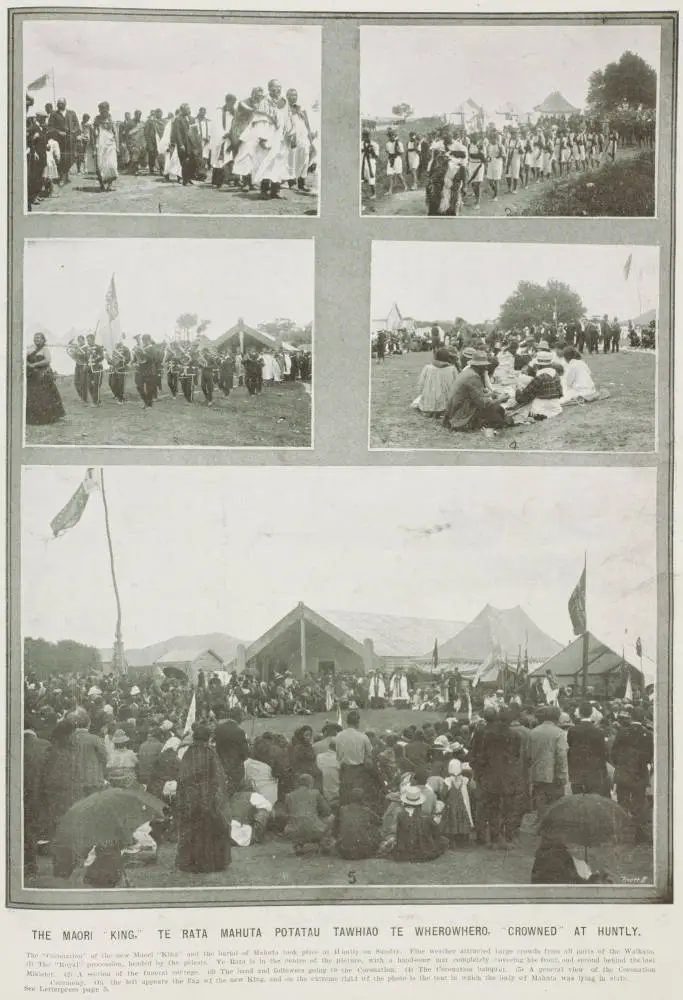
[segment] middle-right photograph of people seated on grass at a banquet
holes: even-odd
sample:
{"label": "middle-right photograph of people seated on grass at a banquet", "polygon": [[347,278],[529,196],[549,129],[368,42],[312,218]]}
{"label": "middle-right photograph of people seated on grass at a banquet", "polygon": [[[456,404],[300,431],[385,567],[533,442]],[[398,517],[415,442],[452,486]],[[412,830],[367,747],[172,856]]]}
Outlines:
{"label": "middle-right photograph of people seated on grass at a banquet", "polygon": [[374,242],[370,448],[652,452],[659,249]]}

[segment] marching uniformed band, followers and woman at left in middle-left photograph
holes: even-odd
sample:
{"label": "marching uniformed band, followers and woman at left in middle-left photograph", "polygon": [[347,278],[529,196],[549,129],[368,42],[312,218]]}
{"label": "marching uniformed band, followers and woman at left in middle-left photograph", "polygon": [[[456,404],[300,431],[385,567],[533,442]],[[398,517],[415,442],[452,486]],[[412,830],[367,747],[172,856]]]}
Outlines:
{"label": "marching uniformed band, followers and woman at left in middle-left photograph", "polygon": [[[164,391],[171,399],[195,400],[200,390],[207,406],[213,406],[214,393],[229,396],[244,387],[250,396],[282,381],[309,383],[312,379],[312,354],[309,350],[250,348],[242,353],[229,345],[215,349],[199,339],[170,340],[156,343],[149,334],[133,338],[129,348],[124,341],[107,351],[97,343],[96,335],[79,335],[67,346],[74,362],[74,387],[84,405],[99,406],[105,377],[116,402],[126,403],[126,380],[133,376],[135,389],[145,409],[149,409]],[[49,424],[64,417],[65,411],[45,336],[36,333],[26,358],[26,422]]]}

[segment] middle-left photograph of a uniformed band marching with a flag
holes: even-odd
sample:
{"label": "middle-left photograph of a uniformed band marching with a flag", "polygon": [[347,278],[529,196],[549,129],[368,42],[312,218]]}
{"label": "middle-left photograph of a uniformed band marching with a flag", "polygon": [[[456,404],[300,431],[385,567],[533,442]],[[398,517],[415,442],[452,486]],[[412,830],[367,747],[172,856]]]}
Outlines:
{"label": "middle-left photograph of a uniformed band marching with a flag", "polygon": [[25,444],[311,448],[313,240],[26,240]]}

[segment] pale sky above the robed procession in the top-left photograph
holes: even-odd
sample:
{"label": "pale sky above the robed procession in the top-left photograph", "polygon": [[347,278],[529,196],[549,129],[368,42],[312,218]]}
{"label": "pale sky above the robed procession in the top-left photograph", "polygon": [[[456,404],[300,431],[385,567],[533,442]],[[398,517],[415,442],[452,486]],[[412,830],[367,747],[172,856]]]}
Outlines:
{"label": "pale sky above the robed procession in the top-left photograph", "polygon": [[[320,28],[143,21],[24,23],[24,86],[54,69],[56,97],[78,115],[109,101],[115,118],[139,108],[167,113],[183,102],[211,112],[273,77],[304,107],[320,99]],[[52,85],[34,93],[40,106]]]}

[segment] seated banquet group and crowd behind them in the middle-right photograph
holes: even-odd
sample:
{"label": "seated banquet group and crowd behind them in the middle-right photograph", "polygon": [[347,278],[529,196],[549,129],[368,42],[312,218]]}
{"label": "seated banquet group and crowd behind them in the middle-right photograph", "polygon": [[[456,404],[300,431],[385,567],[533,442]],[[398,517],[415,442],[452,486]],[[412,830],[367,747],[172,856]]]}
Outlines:
{"label": "seated banquet group and crowd behind them in the middle-right photograph", "polygon": [[[491,432],[548,420],[566,406],[607,397],[597,389],[586,355],[616,354],[626,343],[649,347],[654,339],[654,323],[644,333],[630,321],[607,315],[495,330],[486,338],[470,338],[467,346],[461,332],[451,336],[434,326],[432,360],[420,373],[411,406],[453,431]],[[386,331],[374,337],[378,363],[387,353],[405,350],[400,333],[393,340]]]}

